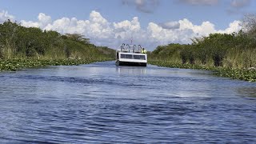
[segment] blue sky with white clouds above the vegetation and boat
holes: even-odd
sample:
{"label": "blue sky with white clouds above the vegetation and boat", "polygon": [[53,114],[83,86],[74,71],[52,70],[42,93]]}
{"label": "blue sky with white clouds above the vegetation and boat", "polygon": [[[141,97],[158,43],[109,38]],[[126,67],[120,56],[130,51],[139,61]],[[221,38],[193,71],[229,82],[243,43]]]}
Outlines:
{"label": "blue sky with white clouds above the vegetation and boat", "polygon": [[97,46],[122,43],[146,50],[241,30],[254,0],[0,0],[0,23],[82,34]]}

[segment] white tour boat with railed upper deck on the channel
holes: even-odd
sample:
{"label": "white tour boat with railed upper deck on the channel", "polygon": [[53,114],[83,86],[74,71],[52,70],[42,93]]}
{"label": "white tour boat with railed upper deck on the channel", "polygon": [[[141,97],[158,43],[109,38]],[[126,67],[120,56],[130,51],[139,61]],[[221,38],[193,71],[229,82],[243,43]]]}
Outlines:
{"label": "white tour boat with railed upper deck on the channel", "polygon": [[142,46],[122,44],[116,51],[117,66],[146,66],[147,54],[142,54]]}

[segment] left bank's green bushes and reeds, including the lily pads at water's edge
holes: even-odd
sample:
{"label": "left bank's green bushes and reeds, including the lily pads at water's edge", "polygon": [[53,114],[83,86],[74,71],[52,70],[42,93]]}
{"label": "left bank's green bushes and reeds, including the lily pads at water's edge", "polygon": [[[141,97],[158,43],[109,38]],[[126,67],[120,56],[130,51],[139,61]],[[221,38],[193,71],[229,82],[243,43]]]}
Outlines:
{"label": "left bank's green bushes and reeds, including the lily pads at water's edge", "polygon": [[0,24],[0,71],[38,66],[79,65],[114,60],[115,50],[95,46],[81,34]]}

